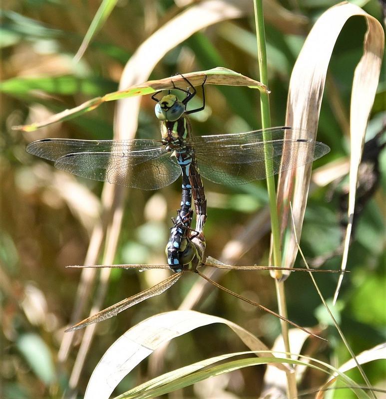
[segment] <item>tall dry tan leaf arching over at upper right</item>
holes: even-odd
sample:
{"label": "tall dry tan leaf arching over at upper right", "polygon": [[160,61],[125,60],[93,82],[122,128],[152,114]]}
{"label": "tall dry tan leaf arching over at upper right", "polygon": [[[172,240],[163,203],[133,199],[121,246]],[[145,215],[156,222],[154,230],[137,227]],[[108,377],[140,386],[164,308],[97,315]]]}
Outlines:
{"label": "tall dry tan leaf arching over at upper right", "polygon": [[[365,129],[378,85],[384,32],[381,24],[360,7],[351,3],[338,4],[322,14],[310,31],[294,66],[287,102],[286,126],[309,132],[308,139],[316,138],[327,68],[335,42],[346,21],[354,15],[366,18],[368,30],[364,40],[364,54],[355,70],[351,100],[351,168],[349,214],[354,211],[358,165],[365,137]],[[305,137],[300,137],[305,138]],[[287,171],[280,176],[278,209],[283,236],[282,265],[292,267],[298,252],[290,215],[293,204],[298,237],[302,230],[310,184],[312,164]],[[285,199],[285,200],[284,200]],[[348,243],[351,225],[348,227]],[[346,267],[347,250],[342,269]],[[342,276],[341,276],[342,277]]]}

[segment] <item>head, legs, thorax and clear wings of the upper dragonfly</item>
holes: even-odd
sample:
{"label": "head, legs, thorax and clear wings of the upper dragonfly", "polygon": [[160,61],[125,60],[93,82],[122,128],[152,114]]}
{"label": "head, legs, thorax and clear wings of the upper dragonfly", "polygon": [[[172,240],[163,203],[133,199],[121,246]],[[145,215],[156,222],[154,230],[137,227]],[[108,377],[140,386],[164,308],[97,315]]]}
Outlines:
{"label": "head, legs, thorax and clear wings of the upper dragonfly", "polygon": [[[183,101],[169,91],[155,106],[162,122],[161,140],[43,139],[30,143],[26,151],[54,161],[59,170],[142,190],[160,189],[177,180],[181,175],[181,153],[194,158],[207,180],[234,186],[265,179],[267,170],[276,175],[306,165],[330,151],[327,145],[314,140],[289,138],[298,131],[289,127],[191,137],[186,115],[202,110],[205,96],[202,107],[188,111],[186,105],[196,90],[175,89],[186,93]],[[264,142],[264,133],[269,133],[271,140]]]}

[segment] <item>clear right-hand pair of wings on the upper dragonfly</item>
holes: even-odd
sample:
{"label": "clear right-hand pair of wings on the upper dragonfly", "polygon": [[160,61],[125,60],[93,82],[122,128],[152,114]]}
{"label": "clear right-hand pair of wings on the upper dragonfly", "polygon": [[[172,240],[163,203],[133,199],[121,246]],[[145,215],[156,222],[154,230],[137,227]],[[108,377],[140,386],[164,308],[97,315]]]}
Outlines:
{"label": "clear right-hand pair of wings on the upper dragonfly", "polygon": [[[272,140],[264,142],[264,132],[269,132]],[[200,136],[193,137],[189,144],[203,177],[214,183],[241,185],[306,165],[330,151],[327,145],[313,140],[288,139],[296,132],[296,129],[273,128]],[[266,163],[270,165],[269,174]]]}

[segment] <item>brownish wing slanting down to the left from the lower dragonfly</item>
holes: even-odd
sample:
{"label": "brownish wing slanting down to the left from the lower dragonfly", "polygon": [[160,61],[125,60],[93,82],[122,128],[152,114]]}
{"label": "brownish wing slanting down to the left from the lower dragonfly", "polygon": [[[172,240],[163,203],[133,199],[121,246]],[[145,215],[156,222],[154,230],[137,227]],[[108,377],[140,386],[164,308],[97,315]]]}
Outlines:
{"label": "brownish wing slanting down to the left from the lower dragonfly", "polygon": [[112,305],[104,310],[101,310],[95,315],[90,316],[87,319],[84,319],[83,321],[67,329],[66,332],[79,330],[90,324],[98,323],[102,320],[109,319],[110,317],[116,316],[118,313],[123,312],[124,310],[130,308],[131,306],[136,305],[137,303],[145,301],[146,299],[151,298],[153,296],[162,294],[164,291],[170,288],[175,282],[177,282],[177,280],[181,277],[181,275],[182,272],[173,274],[172,276],[168,277],[166,280],[161,281],[160,283],[154,285],[153,287],[148,288],[147,290],[142,291],[139,294],[126,298],[123,301],[120,301],[115,305]]}

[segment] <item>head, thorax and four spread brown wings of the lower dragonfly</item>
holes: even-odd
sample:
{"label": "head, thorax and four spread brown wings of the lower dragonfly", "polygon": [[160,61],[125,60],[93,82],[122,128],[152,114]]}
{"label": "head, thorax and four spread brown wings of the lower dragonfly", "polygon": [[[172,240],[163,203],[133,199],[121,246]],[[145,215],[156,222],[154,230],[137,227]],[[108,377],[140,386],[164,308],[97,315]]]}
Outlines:
{"label": "head, thorax and four spread brown wings of the lower dragonfly", "polygon": [[[259,266],[259,265],[247,265],[247,266],[235,266],[235,265],[227,265],[219,260],[208,256],[206,259],[204,257],[205,253],[205,238],[203,238],[203,234],[192,230],[190,228],[190,224],[192,221],[192,212],[190,212],[189,216],[185,219],[184,223],[181,221],[175,220],[175,224],[171,229],[171,235],[168,242],[168,248],[173,247],[174,239],[176,238],[177,241],[180,243],[178,251],[179,251],[179,260],[183,263],[183,268],[179,272],[173,273],[170,277],[166,278],[165,280],[161,281],[160,283],[148,288],[144,291],[139,292],[133,296],[123,299],[122,301],[104,309],[100,312],[80,321],[79,323],[75,324],[74,326],[68,328],[66,332],[79,330],[84,328],[90,324],[98,323],[103,320],[107,320],[113,316],[116,316],[118,313],[123,312],[124,310],[146,300],[152,298],[156,295],[160,295],[173,286],[180,277],[186,272],[193,272],[197,273],[199,276],[207,280],[209,283],[214,285],[215,287],[235,296],[238,299],[241,299],[261,310],[264,310],[284,321],[291,324],[294,327],[300,328],[303,331],[306,331],[308,334],[316,336],[309,330],[304,329],[303,327],[299,326],[298,324],[292,322],[291,320],[279,315],[278,313],[272,311],[271,309],[257,303],[254,301],[245,298],[228,288],[218,284],[214,280],[207,277],[204,273],[202,273],[199,269],[203,266],[208,267],[215,267],[219,269],[226,269],[226,270],[288,270],[288,271],[305,271],[305,272],[333,272],[333,273],[341,273],[341,270],[321,270],[321,269],[304,269],[304,268],[287,268],[287,267],[275,267],[275,266]],[[204,260],[205,259],[205,260]],[[120,265],[95,265],[95,266],[67,266],[67,267],[75,267],[75,268],[84,268],[84,267],[94,267],[94,268],[123,268],[123,269],[136,269],[136,270],[149,270],[149,269],[170,269],[169,264],[164,265],[147,265],[147,264],[120,264]],[[323,339],[323,338],[321,338]]]}

